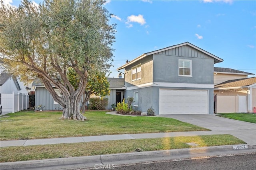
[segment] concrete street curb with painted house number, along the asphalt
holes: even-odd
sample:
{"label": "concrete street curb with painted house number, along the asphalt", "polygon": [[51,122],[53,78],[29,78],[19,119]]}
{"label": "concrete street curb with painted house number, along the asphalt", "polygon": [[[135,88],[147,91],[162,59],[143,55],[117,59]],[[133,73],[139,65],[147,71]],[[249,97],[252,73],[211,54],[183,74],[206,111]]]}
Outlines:
{"label": "concrete street curb with painted house number, along the asphalt", "polygon": [[[223,151],[234,151],[234,146],[241,145],[224,145],[216,147],[202,147],[202,148],[189,148],[189,149],[173,149],[173,150],[158,150],[158,151],[144,151],[144,152],[132,152],[132,153],[121,153],[121,154],[107,154],[107,155],[96,155],[96,156],[81,156],[81,157],[70,157],[70,158],[55,158],[55,159],[44,159],[44,160],[30,160],[30,161],[20,161],[20,162],[3,162],[0,164],[1,170],[9,169],[36,169],[43,167],[55,166],[70,166],[74,168],[89,168],[94,167],[96,164],[107,164],[110,162],[117,163],[122,162],[122,164],[130,164],[131,162],[146,162],[152,160],[166,160],[170,159],[170,156],[175,156],[179,158],[178,155],[198,155],[202,153],[209,152],[223,152]],[[236,150],[252,150],[256,153],[255,145],[244,144],[246,149],[236,149]],[[239,152],[242,153],[242,152]],[[220,153],[218,153],[220,154]],[[181,157],[180,157],[181,158]],[[134,161],[136,160],[136,161]],[[119,163],[120,164],[120,163]],[[44,168],[45,169],[45,168]],[[54,168],[55,169],[55,168]]]}

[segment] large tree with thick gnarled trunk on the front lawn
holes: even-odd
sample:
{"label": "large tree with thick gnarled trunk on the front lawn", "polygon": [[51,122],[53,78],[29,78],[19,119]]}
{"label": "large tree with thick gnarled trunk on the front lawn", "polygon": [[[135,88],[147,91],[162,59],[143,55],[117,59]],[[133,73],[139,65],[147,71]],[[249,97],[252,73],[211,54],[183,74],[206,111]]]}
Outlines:
{"label": "large tree with thick gnarled trunk on the front lawn", "polygon": [[[44,0],[37,8],[24,0],[18,8],[3,3],[0,7],[0,53],[8,68],[20,69],[22,76],[29,72],[38,76],[63,107],[63,119],[86,119],[79,102],[88,72],[108,72],[111,66],[116,25],[109,24],[111,14],[103,4],[103,0]],[[76,72],[78,88],[68,80],[68,68]]]}

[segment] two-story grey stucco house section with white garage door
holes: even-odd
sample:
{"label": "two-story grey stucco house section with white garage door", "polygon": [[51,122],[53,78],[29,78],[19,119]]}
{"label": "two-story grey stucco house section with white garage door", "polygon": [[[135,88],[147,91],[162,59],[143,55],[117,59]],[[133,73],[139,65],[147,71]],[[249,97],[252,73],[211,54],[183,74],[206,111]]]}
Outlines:
{"label": "two-story grey stucco house section with white garage door", "polygon": [[213,114],[214,64],[223,60],[189,42],[144,53],[124,69],[124,97],[155,114]]}

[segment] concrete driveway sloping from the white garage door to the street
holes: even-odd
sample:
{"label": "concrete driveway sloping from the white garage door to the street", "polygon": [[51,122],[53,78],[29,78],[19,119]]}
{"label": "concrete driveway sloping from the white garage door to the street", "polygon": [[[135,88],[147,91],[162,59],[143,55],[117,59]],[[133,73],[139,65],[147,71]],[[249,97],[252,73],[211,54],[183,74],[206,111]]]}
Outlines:
{"label": "concrete driveway sloping from the white garage door to the street", "polygon": [[[190,114],[190,115],[160,115],[170,117],[193,125],[204,127],[222,134],[233,135],[248,144],[256,145],[256,124],[216,115]],[[255,116],[256,117],[256,116]]]}

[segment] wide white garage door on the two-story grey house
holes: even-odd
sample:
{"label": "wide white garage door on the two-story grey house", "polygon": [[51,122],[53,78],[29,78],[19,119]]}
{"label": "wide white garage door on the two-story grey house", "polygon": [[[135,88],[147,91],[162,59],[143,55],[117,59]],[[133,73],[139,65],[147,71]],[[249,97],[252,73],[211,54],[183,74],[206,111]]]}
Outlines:
{"label": "wide white garage door on the two-story grey house", "polygon": [[159,114],[208,114],[208,91],[160,89]]}

